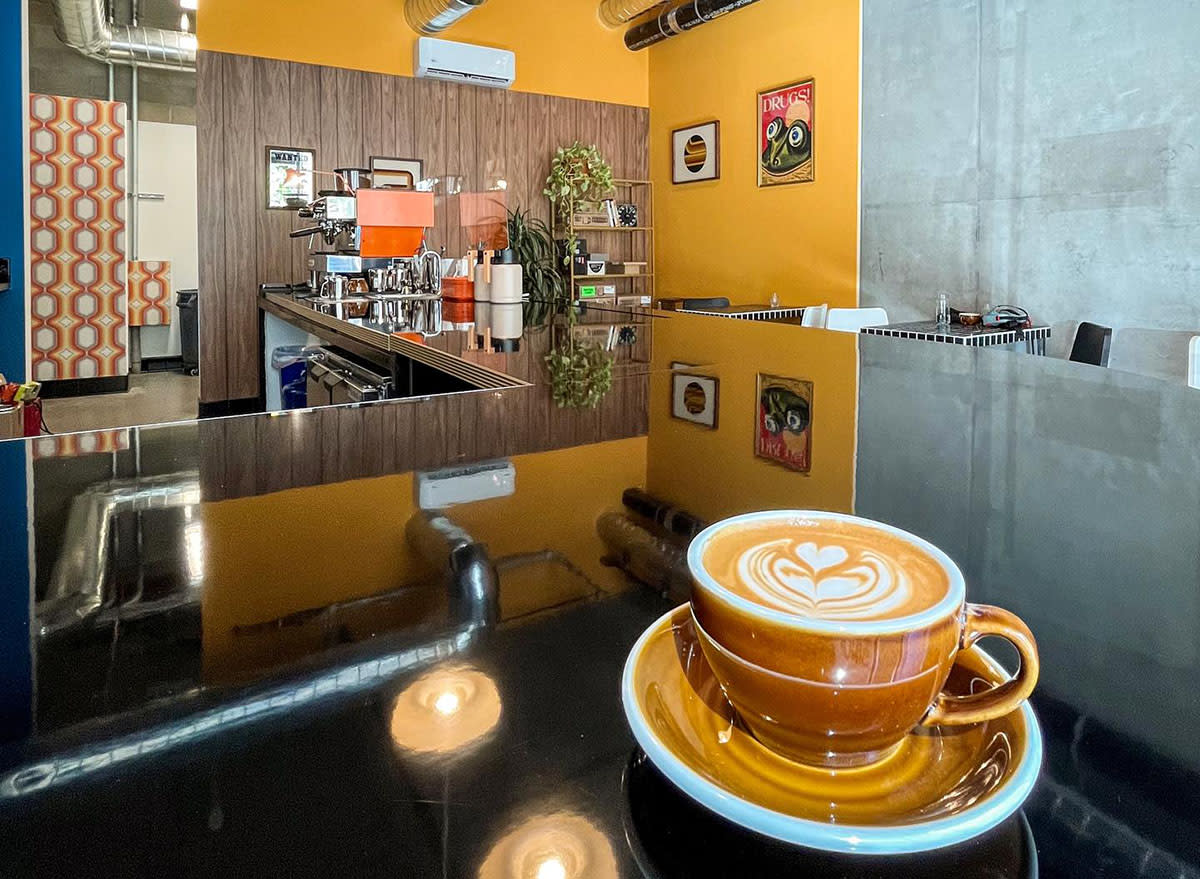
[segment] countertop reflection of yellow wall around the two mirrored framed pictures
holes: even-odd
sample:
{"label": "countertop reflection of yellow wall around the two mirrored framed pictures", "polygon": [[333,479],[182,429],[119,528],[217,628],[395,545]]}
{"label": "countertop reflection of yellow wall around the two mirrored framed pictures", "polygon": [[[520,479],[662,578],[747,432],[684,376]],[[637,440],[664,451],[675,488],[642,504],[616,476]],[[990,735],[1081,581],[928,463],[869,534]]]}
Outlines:
{"label": "countertop reflection of yellow wall around the two mirrored framed pictures", "polygon": [[[672,361],[720,378],[716,430],[671,418]],[[755,458],[757,373],[812,382],[812,470]],[[780,507],[852,512],[858,336],[673,315],[654,324],[647,486],[704,519]]]}

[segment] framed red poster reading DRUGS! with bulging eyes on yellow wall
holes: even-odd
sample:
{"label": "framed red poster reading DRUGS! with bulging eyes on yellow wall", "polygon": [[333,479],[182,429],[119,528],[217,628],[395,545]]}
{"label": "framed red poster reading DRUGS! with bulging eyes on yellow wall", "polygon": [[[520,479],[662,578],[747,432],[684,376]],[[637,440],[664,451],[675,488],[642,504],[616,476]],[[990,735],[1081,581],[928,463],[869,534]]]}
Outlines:
{"label": "framed red poster reading DRUGS! with bulging eyes on yellow wall", "polygon": [[758,92],[758,185],[812,183],[816,82]]}

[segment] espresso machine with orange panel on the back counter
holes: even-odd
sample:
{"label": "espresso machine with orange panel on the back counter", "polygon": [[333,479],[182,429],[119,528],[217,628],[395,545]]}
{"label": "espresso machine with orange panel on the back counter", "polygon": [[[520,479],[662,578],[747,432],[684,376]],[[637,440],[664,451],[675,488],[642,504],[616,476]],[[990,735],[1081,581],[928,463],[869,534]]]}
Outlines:
{"label": "espresso machine with orange panel on the back counter", "polygon": [[308,299],[343,319],[366,319],[392,333],[442,333],[442,259],[425,247],[433,193],[372,189],[370,172],[338,168],[337,189],[301,208],[314,221],[308,238]]}

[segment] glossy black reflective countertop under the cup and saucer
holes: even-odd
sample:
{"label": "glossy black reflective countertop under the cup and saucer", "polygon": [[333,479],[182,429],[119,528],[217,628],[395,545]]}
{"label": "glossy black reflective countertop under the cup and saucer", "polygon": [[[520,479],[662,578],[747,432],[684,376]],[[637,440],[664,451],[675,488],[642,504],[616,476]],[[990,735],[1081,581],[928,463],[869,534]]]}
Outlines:
{"label": "glossy black reflective countertop under the cup and saucer", "polygon": [[[296,486],[230,472],[296,473],[319,411],[0,443],[0,875],[1200,875],[1200,394],[791,327],[762,330],[764,371],[788,331],[826,419],[809,477],[659,418],[664,369],[647,438]],[[696,367],[731,449],[745,369]],[[228,444],[265,419],[293,440]],[[449,506],[414,472],[476,458],[511,494]],[[685,514],[781,496],[932,540],[970,600],[1030,623],[1046,755],[1018,815],[938,853],[824,855],[708,813],[636,749],[620,670],[686,599]],[[418,710],[448,687],[478,719],[454,741]]]}

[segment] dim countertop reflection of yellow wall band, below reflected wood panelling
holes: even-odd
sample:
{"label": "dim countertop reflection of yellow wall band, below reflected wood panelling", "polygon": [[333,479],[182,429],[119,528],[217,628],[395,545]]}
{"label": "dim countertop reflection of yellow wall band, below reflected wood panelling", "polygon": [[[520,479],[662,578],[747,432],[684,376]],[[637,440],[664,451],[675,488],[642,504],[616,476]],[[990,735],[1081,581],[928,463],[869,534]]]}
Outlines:
{"label": "dim countertop reflection of yellow wall band, below reflected wood panelling", "polygon": [[[646,442],[637,437],[518,455],[512,459],[516,495],[454,507],[450,518],[486,543],[493,557],[558,550],[614,588],[619,580],[599,563],[595,519],[620,506],[622,491],[646,484]],[[236,626],[389,592],[434,573],[404,538],[415,510],[410,473],[203,504],[206,680],[235,678],[247,665],[312,650],[312,638],[320,635],[312,627],[235,635]],[[504,610],[545,606],[558,594],[553,587],[553,581],[522,578],[520,588],[529,594],[511,596]],[[401,612],[421,608],[414,603]],[[403,622],[382,618],[379,628]]]}

